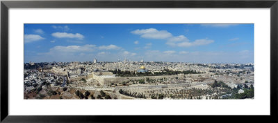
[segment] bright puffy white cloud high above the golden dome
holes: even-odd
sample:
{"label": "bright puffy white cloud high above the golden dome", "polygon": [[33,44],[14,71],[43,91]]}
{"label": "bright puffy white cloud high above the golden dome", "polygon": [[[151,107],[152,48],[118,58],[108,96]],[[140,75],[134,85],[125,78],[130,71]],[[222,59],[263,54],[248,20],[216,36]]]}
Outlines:
{"label": "bright puffy white cloud high above the golden dome", "polygon": [[133,30],[131,33],[141,35],[141,37],[146,39],[166,39],[172,37],[172,34],[167,32],[167,30],[156,30],[155,28]]}

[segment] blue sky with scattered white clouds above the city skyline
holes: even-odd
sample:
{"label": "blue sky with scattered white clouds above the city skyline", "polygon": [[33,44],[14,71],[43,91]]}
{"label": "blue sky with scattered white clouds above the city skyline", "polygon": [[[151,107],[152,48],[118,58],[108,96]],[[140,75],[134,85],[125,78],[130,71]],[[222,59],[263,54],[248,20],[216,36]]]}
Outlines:
{"label": "blue sky with scattered white clouds above the city skyline", "polygon": [[254,63],[254,24],[24,24],[24,62]]}

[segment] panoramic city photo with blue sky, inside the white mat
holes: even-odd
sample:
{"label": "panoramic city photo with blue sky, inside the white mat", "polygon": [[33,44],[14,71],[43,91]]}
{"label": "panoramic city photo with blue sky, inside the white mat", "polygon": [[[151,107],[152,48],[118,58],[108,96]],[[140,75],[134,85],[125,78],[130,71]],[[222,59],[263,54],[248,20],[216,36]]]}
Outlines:
{"label": "panoramic city photo with blue sky, inside the white mat", "polygon": [[248,99],[254,24],[24,24],[24,100]]}

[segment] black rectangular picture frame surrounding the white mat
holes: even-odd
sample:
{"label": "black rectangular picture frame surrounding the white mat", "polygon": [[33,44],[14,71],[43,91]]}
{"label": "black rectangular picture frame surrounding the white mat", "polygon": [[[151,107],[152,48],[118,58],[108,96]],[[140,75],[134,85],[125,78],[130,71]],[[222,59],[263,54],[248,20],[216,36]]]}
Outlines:
{"label": "black rectangular picture frame surrounding the white mat", "polygon": [[[1,1],[1,122],[133,122],[151,120],[183,120],[185,116],[90,116],[90,115],[51,115],[15,116],[8,114],[8,12],[9,8],[270,8],[270,115],[256,115],[242,118],[243,121],[256,121],[277,117],[278,82],[278,2],[277,0],[211,0],[211,1]],[[268,66],[266,66],[268,67]],[[85,110],[85,108],[84,108]],[[212,115],[211,115],[212,116]],[[188,117],[188,116],[186,116]],[[194,119],[207,121],[210,117]],[[212,116],[214,117],[214,116]],[[235,116],[221,116],[234,119]],[[238,116],[242,117],[242,116]],[[147,120],[150,121],[150,120]],[[213,120],[215,122],[215,120]],[[217,122],[217,121],[216,121]],[[219,121],[221,122],[221,120]]]}

